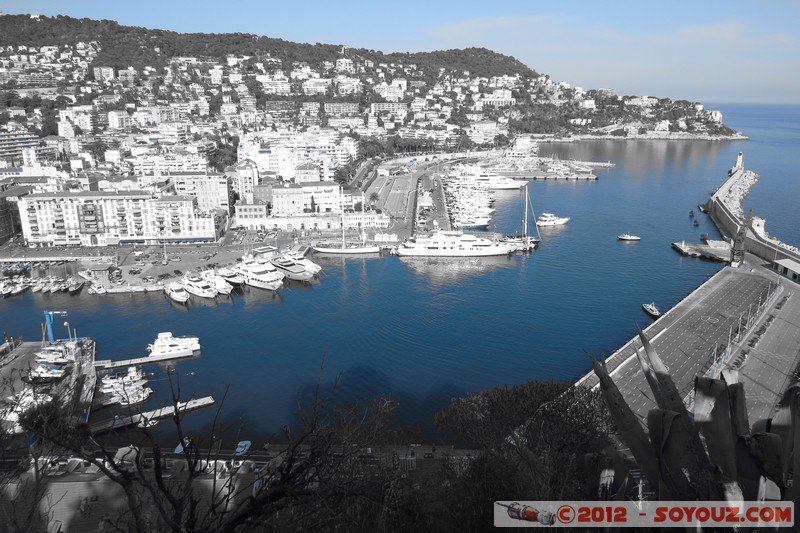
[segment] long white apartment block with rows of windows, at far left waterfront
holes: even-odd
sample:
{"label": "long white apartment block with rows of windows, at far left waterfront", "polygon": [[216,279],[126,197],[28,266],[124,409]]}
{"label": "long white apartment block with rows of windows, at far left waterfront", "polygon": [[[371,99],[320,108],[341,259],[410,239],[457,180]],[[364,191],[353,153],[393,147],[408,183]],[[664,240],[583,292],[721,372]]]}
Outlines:
{"label": "long white apartment block with rows of windows, at far left waterfront", "polygon": [[196,213],[195,200],[154,199],[145,191],[57,192],[20,197],[23,237],[40,246],[106,246],[126,242],[209,241],[215,219]]}

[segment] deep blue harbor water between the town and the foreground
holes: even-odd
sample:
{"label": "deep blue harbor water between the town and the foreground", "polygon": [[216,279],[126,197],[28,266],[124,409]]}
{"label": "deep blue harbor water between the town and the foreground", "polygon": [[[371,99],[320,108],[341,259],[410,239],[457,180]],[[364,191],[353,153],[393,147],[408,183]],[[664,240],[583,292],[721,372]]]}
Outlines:
{"label": "deep blue harbor water between the town and the foreground", "polygon": [[[697,204],[721,185],[739,151],[762,177],[745,207],[766,218],[768,232],[800,244],[800,107],[709,107],[751,140],[542,145],[542,155],[616,166],[597,171],[594,182],[531,182],[537,214],[572,218],[543,231],[530,255],[317,257],[324,271],[312,286],[245,290],[216,303],[193,298],[188,309],[163,295],[27,292],[0,301],[2,328],[39,339],[42,311],[67,310],[78,334],[97,341],[98,359],[143,356],[159,331],[198,335],[201,355],[177,364],[181,397],[212,395],[218,405],[224,397],[218,432],[251,439],[296,423],[298,400],[313,394],[324,357],[323,392],[332,399],[386,393],[400,403],[398,424],[441,438],[433,414],[450,397],[531,379],[573,381],[589,370],[586,351],[608,355],[649,323],[642,303],[668,309],[717,272],[720,264],[683,258],[670,243],[718,235]],[[491,229],[519,231],[523,202],[518,192],[498,192]],[[617,241],[624,232],[641,241]],[[155,391],[146,408],[167,403],[163,369],[146,371]],[[213,415],[213,408],[193,413],[186,424],[201,433]]]}

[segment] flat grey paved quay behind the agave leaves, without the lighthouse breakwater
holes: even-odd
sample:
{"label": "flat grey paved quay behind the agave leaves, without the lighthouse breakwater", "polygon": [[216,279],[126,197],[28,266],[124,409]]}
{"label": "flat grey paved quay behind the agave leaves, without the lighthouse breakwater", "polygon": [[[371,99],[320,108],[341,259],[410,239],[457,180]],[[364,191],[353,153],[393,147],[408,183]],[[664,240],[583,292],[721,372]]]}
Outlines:
{"label": "flat grey paved quay behind the agave leaves, without the lighthouse breakwater", "polygon": [[[795,345],[783,355],[772,356],[780,362],[767,362],[769,355],[759,353],[756,358],[756,350],[748,342],[767,321],[771,325],[766,335],[800,339],[800,324],[792,322],[799,314],[800,298],[792,297],[768,270],[746,272],[726,267],[645,328],[644,333],[687,405],[693,398],[695,376],[708,375],[712,369],[717,375],[723,368],[739,370],[753,422],[772,411],[789,372],[800,360],[800,351]],[[639,350],[641,342],[634,337],[606,359],[606,366],[633,412],[646,420],[656,404],[636,357]],[[773,371],[758,382],[747,378],[752,372],[760,373],[758,367],[764,364],[785,372]],[[599,381],[589,373],[578,384],[594,388]],[[751,397],[756,396],[761,401],[751,402]]]}

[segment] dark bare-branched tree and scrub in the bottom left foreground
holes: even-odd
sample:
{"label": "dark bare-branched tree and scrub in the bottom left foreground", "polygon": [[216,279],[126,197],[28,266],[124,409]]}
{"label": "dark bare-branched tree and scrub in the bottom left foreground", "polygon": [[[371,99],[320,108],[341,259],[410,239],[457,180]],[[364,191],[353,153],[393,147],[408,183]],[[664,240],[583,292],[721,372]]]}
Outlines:
{"label": "dark bare-branched tree and scrub in the bottom left foreground", "polygon": [[[185,434],[180,388],[172,390],[172,423],[177,441],[183,443],[178,456],[162,450],[150,435],[146,444],[106,448],[92,438],[86,424],[75,423],[57,399],[36,405],[20,423],[38,436],[40,446],[65,450],[119,487],[124,509],[117,516],[102,517],[107,530],[396,529],[392,524],[404,480],[391,465],[365,457],[363,448],[385,443],[396,407],[388,398],[330,406],[318,382],[310,406],[299,408],[300,429],[284,428],[285,444],[279,450],[231,457]],[[216,419],[211,431],[215,429]],[[40,525],[47,522],[39,518]]]}

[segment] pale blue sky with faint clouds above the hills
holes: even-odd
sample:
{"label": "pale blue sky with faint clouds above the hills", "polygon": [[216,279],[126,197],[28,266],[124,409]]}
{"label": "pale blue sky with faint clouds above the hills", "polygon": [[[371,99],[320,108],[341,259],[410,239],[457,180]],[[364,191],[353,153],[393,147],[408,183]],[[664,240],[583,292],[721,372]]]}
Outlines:
{"label": "pale blue sky with faint clouds above the hills", "polygon": [[800,103],[798,0],[0,0],[0,10],[382,52],[477,46],[584,89]]}

